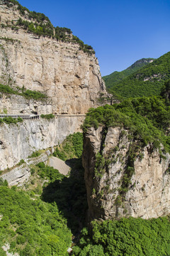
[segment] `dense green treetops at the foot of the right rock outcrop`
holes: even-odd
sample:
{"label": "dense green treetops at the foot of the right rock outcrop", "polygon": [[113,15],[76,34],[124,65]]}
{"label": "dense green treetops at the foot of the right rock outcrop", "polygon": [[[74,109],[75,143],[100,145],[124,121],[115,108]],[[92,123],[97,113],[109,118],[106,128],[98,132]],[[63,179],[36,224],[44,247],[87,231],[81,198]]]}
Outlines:
{"label": "dense green treetops at the foot of the right rock outcrop", "polygon": [[170,255],[169,218],[94,221],[92,235],[84,228],[74,256]]}

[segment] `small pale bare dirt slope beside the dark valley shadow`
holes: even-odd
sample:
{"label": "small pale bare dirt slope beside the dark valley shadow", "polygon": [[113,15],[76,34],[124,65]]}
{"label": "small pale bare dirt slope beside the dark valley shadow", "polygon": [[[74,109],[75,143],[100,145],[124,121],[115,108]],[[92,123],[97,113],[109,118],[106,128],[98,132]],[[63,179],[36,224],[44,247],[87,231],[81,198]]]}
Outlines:
{"label": "small pale bare dirt slope beside the dark valley shadow", "polygon": [[64,175],[67,175],[70,170],[70,167],[67,164],[65,164],[64,161],[62,161],[61,159],[58,159],[55,156],[50,157],[48,165],[59,170],[60,174],[64,174]]}

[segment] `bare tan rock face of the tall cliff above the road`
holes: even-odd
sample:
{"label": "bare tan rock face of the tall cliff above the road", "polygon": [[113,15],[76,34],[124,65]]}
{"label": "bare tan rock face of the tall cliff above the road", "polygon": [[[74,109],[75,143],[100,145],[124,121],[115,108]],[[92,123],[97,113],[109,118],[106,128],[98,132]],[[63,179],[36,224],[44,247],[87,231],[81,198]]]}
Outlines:
{"label": "bare tan rock face of the tall cliff above the road", "polygon": [[52,113],[84,114],[95,107],[99,93],[106,94],[95,55],[78,43],[13,30],[18,18],[30,20],[5,3],[0,1],[0,82],[45,93]]}

